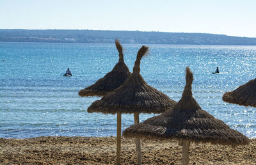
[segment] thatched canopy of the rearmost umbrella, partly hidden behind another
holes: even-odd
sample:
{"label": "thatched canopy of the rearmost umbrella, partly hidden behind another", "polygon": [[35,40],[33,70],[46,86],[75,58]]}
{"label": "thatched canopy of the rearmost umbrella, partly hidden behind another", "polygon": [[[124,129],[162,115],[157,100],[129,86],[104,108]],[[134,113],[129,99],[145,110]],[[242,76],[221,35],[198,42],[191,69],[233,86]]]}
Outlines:
{"label": "thatched canopy of the rearmost umbrella, partly hidden behind another", "polygon": [[111,72],[108,72],[104,77],[99,79],[95,84],[84,88],[79,91],[81,97],[88,96],[99,96],[102,97],[107,93],[115,90],[119,86],[125,83],[131,72],[124,63],[123,47],[120,42],[116,39],[116,49],[119,52],[119,61]]}

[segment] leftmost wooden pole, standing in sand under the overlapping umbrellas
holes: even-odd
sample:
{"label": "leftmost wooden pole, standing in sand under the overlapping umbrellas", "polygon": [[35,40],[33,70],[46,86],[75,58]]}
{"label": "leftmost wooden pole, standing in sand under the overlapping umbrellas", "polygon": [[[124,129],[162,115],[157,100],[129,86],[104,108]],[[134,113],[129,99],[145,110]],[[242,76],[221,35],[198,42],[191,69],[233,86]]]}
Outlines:
{"label": "leftmost wooden pole, standing in sand under the overlapping umbrellas", "polygon": [[120,163],[121,155],[121,113],[117,113],[117,128],[116,128],[116,164]]}

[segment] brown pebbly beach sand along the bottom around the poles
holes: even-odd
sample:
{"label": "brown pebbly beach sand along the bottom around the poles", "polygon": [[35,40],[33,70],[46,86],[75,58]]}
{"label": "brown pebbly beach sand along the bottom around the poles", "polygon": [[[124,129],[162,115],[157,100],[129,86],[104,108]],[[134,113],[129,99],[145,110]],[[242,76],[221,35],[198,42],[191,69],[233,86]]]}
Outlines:
{"label": "brown pebbly beach sand along the bottom around the poles", "polygon": [[[143,164],[180,164],[182,146],[175,141],[141,139]],[[0,138],[0,164],[115,164],[116,138]],[[136,164],[134,139],[122,138],[122,164]],[[189,164],[256,164],[256,139],[250,145],[191,143]]]}

